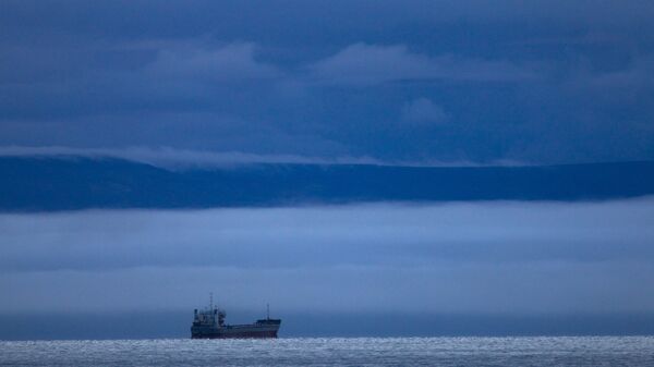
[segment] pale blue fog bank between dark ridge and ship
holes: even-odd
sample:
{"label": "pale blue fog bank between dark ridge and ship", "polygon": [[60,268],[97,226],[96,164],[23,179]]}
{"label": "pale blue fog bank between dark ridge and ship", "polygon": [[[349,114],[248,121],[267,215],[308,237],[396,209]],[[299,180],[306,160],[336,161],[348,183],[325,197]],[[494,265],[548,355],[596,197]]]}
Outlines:
{"label": "pale blue fog bank between dark ridge and ship", "polygon": [[228,308],[642,311],[652,218],[651,198],[2,215],[0,310],[193,308],[215,291]]}

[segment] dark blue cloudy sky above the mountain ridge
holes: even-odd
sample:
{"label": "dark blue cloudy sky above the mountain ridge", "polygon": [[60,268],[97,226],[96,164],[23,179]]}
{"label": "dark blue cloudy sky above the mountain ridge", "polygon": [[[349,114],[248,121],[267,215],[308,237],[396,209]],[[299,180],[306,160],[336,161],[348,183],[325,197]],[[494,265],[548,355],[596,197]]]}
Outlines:
{"label": "dark blue cloudy sky above the mountain ridge", "polygon": [[0,3],[0,146],[654,159],[651,1]]}

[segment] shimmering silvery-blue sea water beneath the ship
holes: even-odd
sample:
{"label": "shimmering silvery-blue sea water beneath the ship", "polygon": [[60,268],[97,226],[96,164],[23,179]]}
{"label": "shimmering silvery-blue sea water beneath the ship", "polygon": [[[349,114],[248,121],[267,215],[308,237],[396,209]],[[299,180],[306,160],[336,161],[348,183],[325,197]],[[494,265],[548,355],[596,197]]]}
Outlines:
{"label": "shimmering silvery-blue sea water beneath the ship", "polygon": [[0,341],[1,366],[654,366],[654,337]]}

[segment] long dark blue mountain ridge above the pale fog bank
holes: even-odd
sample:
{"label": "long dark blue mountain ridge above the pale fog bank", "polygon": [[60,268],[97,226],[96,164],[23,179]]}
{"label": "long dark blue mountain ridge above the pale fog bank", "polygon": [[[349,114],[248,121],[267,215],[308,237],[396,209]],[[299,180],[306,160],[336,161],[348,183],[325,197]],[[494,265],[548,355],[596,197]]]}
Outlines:
{"label": "long dark blue mountain ridge above the pale fog bank", "polygon": [[246,163],[170,171],[116,158],[0,157],[0,176],[1,211],[573,201],[654,194],[654,161],[542,167]]}

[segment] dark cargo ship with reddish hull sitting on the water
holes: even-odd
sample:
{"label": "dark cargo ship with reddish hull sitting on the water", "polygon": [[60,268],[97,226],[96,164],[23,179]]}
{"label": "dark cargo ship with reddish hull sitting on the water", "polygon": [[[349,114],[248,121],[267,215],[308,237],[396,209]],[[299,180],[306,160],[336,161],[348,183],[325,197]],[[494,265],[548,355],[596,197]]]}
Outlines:
{"label": "dark cargo ship with reddish hull sitting on the water", "polygon": [[192,339],[265,339],[277,338],[281,319],[270,318],[270,307],[266,305],[266,318],[254,323],[225,323],[227,313],[209,303],[209,307],[193,311]]}

